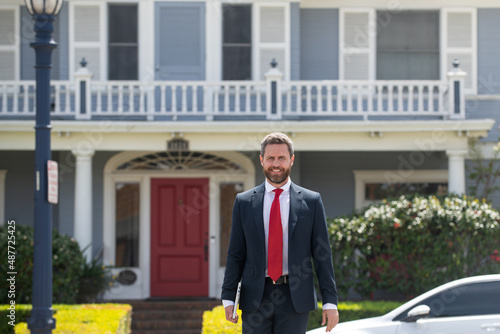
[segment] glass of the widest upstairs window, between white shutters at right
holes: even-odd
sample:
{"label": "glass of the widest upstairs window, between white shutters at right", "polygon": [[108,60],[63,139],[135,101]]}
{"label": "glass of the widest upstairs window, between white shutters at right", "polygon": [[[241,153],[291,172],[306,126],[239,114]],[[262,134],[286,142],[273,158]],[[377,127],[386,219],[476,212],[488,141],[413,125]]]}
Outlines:
{"label": "glass of the widest upstairs window, between white shutters at right", "polygon": [[439,13],[377,12],[377,78],[439,79]]}

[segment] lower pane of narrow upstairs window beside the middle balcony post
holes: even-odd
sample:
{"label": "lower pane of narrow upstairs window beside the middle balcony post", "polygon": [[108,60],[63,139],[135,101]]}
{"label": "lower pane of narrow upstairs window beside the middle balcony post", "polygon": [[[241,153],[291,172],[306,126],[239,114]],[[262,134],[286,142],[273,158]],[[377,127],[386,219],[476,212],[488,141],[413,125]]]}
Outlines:
{"label": "lower pane of narrow upstairs window beside the middle balcony post", "polygon": [[249,47],[224,47],[223,80],[251,80],[252,49]]}

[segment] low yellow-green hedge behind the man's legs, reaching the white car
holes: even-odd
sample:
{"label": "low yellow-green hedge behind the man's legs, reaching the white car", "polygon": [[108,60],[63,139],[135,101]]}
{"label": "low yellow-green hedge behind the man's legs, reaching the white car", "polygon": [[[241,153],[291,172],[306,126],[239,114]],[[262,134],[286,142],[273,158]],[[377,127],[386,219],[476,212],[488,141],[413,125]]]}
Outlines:
{"label": "low yellow-green hedge behind the man's legs, reaching the white car", "polygon": [[[396,307],[400,306],[399,302],[383,302],[383,301],[362,301],[362,302],[341,302],[339,303],[340,322],[351,320],[375,317],[386,314]],[[309,323],[307,329],[321,327],[322,309],[321,304],[318,309],[309,314]],[[238,315],[241,319],[241,311],[238,310]],[[237,324],[233,324],[226,320],[223,306],[214,307],[210,311],[203,313],[203,330],[202,334],[239,334],[241,333],[241,320]]]}

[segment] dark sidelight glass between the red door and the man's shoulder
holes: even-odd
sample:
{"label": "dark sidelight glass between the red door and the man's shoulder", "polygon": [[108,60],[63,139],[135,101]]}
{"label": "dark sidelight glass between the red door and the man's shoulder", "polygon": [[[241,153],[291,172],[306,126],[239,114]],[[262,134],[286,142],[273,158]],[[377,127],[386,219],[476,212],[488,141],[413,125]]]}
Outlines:
{"label": "dark sidelight glass between the red door and the man's shoulder", "polygon": [[233,205],[236,195],[243,190],[241,183],[221,184],[220,186],[220,266],[226,266],[229,235],[231,234],[231,221]]}

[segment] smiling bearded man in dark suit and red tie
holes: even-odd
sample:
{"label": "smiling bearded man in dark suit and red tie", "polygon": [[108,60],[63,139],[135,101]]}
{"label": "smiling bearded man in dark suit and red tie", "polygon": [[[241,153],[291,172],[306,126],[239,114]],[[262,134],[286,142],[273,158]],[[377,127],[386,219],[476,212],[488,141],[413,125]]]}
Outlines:
{"label": "smiling bearded man in dark suit and red tie", "polygon": [[[233,323],[241,280],[243,334],[303,334],[317,308],[312,263],[329,332],[339,321],[337,289],[321,196],[291,182],[293,143],[271,133],[261,143],[266,180],[236,196],[222,301]],[[281,224],[280,224],[281,223]]]}

